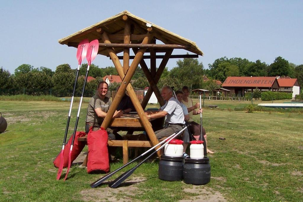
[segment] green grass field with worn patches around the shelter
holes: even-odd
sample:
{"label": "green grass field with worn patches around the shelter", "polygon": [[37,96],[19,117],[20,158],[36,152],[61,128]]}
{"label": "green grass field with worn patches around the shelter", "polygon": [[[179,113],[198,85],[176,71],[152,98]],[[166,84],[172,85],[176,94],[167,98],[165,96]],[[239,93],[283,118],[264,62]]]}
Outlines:
{"label": "green grass field with worn patches around the shelter", "polygon": [[[250,103],[205,102],[219,106],[203,113],[208,146],[215,151],[209,155],[212,178],[207,185],[159,180],[155,160],[142,164],[125,186],[91,189],[102,175],[87,174],[85,168],[74,166],[68,180],[55,180],[52,160],[61,150],[69,102],[0,100],[8,122],[0,134],[0,201],[303,201],[303,113],[233,110]],[[78,130],[84,130],[86,107],[83,103]],[[69,133],[76,108],[78,103]],[[195,121],[200,122],[199,116]],[[112,163],[111,170],[121,165]]]}

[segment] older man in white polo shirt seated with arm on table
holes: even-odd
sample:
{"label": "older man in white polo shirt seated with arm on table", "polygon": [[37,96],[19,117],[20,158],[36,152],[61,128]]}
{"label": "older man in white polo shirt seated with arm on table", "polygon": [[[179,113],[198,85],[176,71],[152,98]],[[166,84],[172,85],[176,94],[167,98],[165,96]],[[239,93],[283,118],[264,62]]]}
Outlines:
{"label": "older man in white polo shirt seated with arm on table", "polygon": [[[184,114],[180,102],[172,95],[173,91],[170,86],[164,86],[161,90],[161,96],[166,101],[157,112],[146,112],[148,118],[162,118],[166,116],[165,128],[155,132],[156,137],[170,136],[182,130],[184,121]],[[180,135],[181,136],[181,135]]]}

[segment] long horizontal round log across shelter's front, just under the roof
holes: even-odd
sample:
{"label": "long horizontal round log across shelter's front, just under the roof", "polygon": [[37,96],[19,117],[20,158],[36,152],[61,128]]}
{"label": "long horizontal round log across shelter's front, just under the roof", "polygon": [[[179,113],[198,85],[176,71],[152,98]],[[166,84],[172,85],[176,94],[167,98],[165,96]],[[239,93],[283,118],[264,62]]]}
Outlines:
{"label": "long horizontal round log across shelter's front, just under the roof", "polygon": [[138,43],[99,43],[99,47],[107,48],[160,48],[160,49],[189,49],[190,45],[177,44],[138,44]]}

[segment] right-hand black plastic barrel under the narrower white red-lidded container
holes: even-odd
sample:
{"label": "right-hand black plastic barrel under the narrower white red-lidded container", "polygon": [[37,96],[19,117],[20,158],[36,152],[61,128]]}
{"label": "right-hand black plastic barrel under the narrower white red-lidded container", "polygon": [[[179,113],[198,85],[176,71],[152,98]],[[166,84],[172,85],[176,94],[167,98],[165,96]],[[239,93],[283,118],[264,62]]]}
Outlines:
{"label": "right-hand black plastic barrel under the narrower white red-lidded container", "polygon": [[185,158],[183,180],[186,184],[203,185],[210,181],[209,158]]}

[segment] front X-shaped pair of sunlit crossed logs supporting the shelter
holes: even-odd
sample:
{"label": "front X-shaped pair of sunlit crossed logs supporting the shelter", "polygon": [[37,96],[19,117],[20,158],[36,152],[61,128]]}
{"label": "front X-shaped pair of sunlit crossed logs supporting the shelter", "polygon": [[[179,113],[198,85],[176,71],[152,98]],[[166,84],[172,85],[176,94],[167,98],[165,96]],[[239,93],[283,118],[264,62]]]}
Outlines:
{"label": "front X-shaped pair of sunlit crossed logs supporting the shelter", "polygon": [[[142,44],[146,44],[149,42],[149,40],[151,39],[151,36],[148,34],[145,39],[143,40]],[[110,41],[108,40],[108,36],[106,34],[106,32],[104,32],[102,34],[102,40],[105,42],[105,43],[110,43]],[[151,124],[149,123],[145,113],[144,113],[144,110],[142,109],[142,106],[140,105],[140,102],[137,98],[137,95],[134,91],[134,89],[132,88],[132,84],[130,84],[130,79],[132,78],[134,72],[135,72],[135,69],[138,67],[138,64],[139,62],[141,61],[142,57],[143,57],[143,54],[144,54],[144,51],[146,49],[140,49],[137,54],[136,54],[136,57],[134,59],[134,61],[132,62],[130,68],[128,69],[128,72],[126,73],[126,75],[124,75],[124,72],[123,72],[123,67],[118,59],[118,56],[116,55],[116,53],[113,51],[113,49],[107,49],[108,50],[108,53],[109,53],[109,56],[111,57],[117,71],[118,71],[118,74],[119,76],[121,77],[122,80],[122,83],[121,83],[121,86],[116,94],[116,97],[115,99],[113,100],[112,102],[112,106],[111,108],[109,109],[107,115],[105,116],[105,119],[102,123],[102,127],[103,128],[107,128],[109,126],[109,123],[112,119],[112,116],[114,115],[114,112],[115,110],[117,109],[118,107],[118,104],[120,103],[121,99],[122,99],[122,95],[124,95],[124,92],[125,92],[125,89],[127,90],[128,92],[128,95],[129,97],[131,98],[132,100],[132,103],[141,119],[141,122],[142,122],[142,125],[144,126],[145,130],[146,130],[146,133],[149,137],[149,139],[151,140],[151,142],[153,143],[153,145],[156,145],[159,143],[158,139],[156,138],[155,136],[155,133],[154,131],[152,130],[151,128]],[[158,147],[157,147],[158,148]],[[156,148],[156,149],[157,149]],[[157,153],[158,154],[158,157],[160,157],[160,152]]]}

